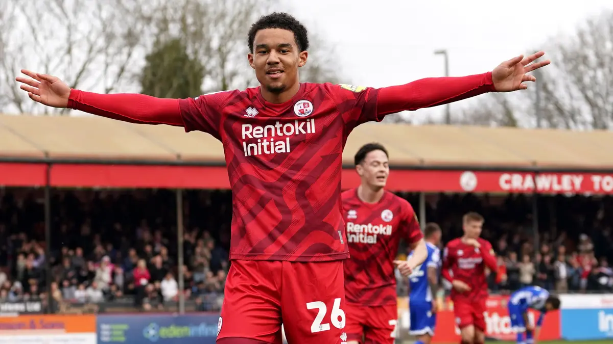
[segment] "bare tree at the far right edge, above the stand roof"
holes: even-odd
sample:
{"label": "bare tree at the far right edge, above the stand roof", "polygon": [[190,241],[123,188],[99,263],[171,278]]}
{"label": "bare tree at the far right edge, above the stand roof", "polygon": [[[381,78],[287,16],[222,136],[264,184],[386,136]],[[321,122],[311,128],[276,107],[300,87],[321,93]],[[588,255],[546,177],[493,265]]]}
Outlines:
{"label": "bare tree at the far right edge, above the stand roof", "polygon": [[547,52],[554,63],[541,77],[544,124],[613,129],[613,11],[558,37]]}

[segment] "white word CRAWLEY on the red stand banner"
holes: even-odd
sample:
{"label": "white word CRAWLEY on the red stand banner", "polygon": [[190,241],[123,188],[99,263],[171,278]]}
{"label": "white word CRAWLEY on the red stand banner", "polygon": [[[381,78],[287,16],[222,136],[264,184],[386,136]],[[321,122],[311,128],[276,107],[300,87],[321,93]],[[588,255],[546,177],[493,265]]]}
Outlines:
{"label": "white word CRAWLEY on the red stand banner", "polygon": [[498,179],[505,191],[579,192],[582,174],[532,174],[503,173]]}

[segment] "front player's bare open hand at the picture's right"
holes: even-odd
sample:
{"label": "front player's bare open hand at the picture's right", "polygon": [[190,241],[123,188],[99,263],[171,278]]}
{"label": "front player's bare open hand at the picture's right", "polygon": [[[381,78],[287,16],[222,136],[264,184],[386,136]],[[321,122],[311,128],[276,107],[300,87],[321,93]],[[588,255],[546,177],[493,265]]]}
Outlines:
{"label": "front player's bare open hand at the picture's right", "polygon": [[498,65],[498,67],[492,70],[492,81],[496,91],[511,92],[527,89],[528,85],[525,84],[525,81],[536,81],[534,75],[528,75],[527,73],[544,67],[551,62],[549,60],[534,62],[544,54],[544,51],[539,51],[527,58],[524,58],[524,55],[520,55]]}

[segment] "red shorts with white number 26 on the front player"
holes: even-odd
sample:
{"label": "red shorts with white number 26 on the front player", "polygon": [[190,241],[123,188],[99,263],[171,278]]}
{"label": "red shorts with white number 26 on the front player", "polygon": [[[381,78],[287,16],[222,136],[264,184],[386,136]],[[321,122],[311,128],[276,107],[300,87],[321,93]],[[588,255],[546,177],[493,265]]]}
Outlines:
{"label": "red shorts with white number 26 on the front player", "polygon": [[343,261],[234,260],[217,343],[341,343],[345,337]]}

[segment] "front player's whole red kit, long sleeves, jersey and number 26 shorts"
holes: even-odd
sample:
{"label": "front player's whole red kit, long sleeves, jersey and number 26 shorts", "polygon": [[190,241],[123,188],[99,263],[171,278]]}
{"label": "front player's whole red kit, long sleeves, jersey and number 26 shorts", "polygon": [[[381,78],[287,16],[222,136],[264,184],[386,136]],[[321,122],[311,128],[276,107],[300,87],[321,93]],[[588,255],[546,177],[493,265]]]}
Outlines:
{"label": "front player's whole red kit, long sleeves, jersey and number 26 shorts", "polygon": [[218,343],[346,338],[342,151],[357,125],[495,91],[492,73],[387,88],[302,83],[287,102],[259,88],[193,99],[73,89],[68,106],[107,118],[199,130],[223,143],[232,189],[230,271]]}

